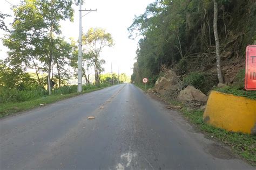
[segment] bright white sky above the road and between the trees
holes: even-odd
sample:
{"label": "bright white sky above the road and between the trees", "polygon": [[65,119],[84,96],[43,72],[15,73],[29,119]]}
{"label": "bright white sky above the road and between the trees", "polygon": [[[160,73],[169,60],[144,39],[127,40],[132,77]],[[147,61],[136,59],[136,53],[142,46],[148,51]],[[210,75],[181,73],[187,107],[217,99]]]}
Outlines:
{"label": "bright white sky above the road and between the trees", "polygon": [[[19,4],[19,0],[7,0],[11,4]],[[75,2],[75,0],[73,0]],[[138,39],[131,40],[128,38],[129,33],[127,27],[129,27],[134,19],[134,16],[138,16],[145,12],[146,6],[155,0],[85,0],[82,9],[97,9],[97,12],[91,12],[82,18],[82,31],[86,33],[90,27],[100,27],[109,32],[114,40],[113,47],[105,47],[100,54],[102,59],[106,60],[105,73],[111,72],[111,62],[113,72],[132,74],[134,58],[136,57],[136,49],[138,46]],[[6,0],[0,0],[0,11],[12,15],[12,5]],[[69,20],[60,22],[62,26],[62,36],[69,41],[68,38],[73,37],[78,39],[79,30],[79,11],[78,6],[73,5],[75,10],[74,22]],[[86,12],[83,12],[84,15]],[[9,25],[13,21],[14,17],[8,17],[5,19],[5,23]],[[5,34],[0,30],[0,38]],[[6,58],[8,48],[4,47],[2,41],[0,42],[0,59]]]}

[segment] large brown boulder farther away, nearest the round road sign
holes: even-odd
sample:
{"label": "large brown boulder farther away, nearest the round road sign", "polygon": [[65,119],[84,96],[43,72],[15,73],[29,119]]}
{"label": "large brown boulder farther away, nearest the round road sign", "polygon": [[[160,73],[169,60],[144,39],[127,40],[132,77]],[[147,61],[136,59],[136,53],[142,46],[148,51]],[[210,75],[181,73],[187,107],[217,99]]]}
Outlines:
{"label": "large brown boulder farther away, nearest the round road sign", "polygon": [[179,89],[179,77],[172,70],[168,70],[163,77],[160,77],[156,84],[154,84],[154,90],[157,93],[165,94],[170,91],[176,91]]}

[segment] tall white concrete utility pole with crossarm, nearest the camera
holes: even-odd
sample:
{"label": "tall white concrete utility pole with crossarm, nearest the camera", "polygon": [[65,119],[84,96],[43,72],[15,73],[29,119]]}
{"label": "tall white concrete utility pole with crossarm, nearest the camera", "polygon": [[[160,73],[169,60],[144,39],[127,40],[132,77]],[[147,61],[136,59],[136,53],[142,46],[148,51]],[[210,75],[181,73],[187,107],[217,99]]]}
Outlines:
{"label": "tall white concrete utility pole with crossarm, nearest the camera", "polygon": [[[82,0],[78,0],[79,3],[79,45],[78,45],[78,84],[77,84],[77,92],[82,92],[82,17],[87,15],[88,13],[96,10],[82,10]],[[78,4],[77,4],[78,5]],[[82,16],[82,11],[89,11],[85,15]]]}

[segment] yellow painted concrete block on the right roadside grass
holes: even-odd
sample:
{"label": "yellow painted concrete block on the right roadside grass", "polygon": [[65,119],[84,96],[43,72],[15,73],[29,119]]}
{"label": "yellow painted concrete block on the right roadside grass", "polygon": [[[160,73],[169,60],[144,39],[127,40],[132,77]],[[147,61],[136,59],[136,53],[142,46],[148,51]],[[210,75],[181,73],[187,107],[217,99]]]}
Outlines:
{"label": "yellow painted concrete block on the right roadside grass", "polygon": [[203,118],[218,128],[256,134],[256,100],[212,91]]}

